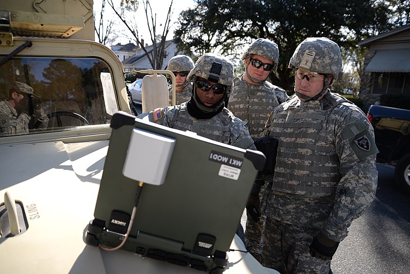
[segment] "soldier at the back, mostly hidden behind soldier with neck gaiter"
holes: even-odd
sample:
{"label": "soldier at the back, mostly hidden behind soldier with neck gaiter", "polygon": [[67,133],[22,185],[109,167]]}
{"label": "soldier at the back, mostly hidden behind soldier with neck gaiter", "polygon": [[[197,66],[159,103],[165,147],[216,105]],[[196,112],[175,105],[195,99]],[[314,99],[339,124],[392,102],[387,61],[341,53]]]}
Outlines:
{"label": "soldier at the back, mostly hidden behind soldier with neck gaiter", "polygon": [[[167,69],[175,75],[175,95],[176,105],[187,102],[191,99],[192,84],[187,81],[187,76],[194,68],[194,62],[190,56],[176,55],[168,62]],[[172,86],[169,87],[170,106],[172,106]]]}

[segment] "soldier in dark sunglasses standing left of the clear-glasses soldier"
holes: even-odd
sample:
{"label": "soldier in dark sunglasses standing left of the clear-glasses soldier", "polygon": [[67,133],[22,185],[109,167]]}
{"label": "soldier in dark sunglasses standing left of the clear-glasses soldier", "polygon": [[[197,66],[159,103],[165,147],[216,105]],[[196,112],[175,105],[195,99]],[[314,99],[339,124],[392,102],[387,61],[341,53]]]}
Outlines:
{"label": "soldier in dark sunglasses standing left of the clear-glasses soldier", "polygon": [[[242,55],[245,73],[234,79],[234,89],[229,98],[229,109],[239,119],[249,124],[249,132],[256,141],[268,119],[271,110],[288,99],[288,94],[266,81],[269,74],[276,70],[279,61],[279,49],[276,43],[258,38]],[[263,191],[259,192],[260,197]],[[262,231],[264,217],[255,222],[247,211],[245,245],[248,251],[260,261],[262,250]]]}

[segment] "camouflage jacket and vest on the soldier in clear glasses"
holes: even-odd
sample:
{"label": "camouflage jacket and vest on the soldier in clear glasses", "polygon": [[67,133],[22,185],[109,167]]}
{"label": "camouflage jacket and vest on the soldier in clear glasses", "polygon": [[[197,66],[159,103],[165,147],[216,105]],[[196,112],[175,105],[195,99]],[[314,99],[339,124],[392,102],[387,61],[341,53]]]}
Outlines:
{"label": "camouflage jacket and vest on the soldier in clear glasses", "polygon": [[279,140],[265,214],[343,240],[377,187],[378,150],[364,113],[330,91],[320,101],[294,95],[275,108],[262,135]]}

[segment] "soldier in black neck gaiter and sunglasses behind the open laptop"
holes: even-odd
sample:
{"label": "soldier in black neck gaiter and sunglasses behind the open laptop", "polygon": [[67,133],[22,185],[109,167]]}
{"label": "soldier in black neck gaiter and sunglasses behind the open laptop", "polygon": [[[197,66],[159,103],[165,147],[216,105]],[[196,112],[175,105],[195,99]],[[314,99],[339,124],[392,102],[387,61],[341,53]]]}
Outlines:
{"label": "soldier in black neck gaiter and sunglasses behind the open laptop", "polygon": [[193,90],[188,102],[142,113],[138,118],[163,126],[189,130],[200,136],[240,148],[256,149],[247,124],[224,107],[233,86],[234,67],[227,58],[206,53],[188,75]]}

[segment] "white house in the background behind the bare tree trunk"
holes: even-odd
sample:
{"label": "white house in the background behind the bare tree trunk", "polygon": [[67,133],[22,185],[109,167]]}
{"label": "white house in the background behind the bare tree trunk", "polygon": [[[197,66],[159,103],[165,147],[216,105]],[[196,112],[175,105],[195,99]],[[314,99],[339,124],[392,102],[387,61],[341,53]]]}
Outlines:
{"label": "white house in the background behind the bare tree trunk", "polygon": [[[154,49],[152,45],[146,46],[145,48],[149,54],[151,54]],[[165,57],[163,59],[161,69],[165,69],[167,67],[168,62],[170,61],[172,57],[174,57],[177,54],[180,54],[180,52],[177,49],[177,45],[174,43],[173,40],[169,40],[165,42],[164,50],[165,50]],[[152,65],[148,59],[148,56],[145,53],[145,51],[142,50],[142,48],[137,48],[134,55],[122,61],[122,65],[124,66],[125,71],[152,68]]]}

